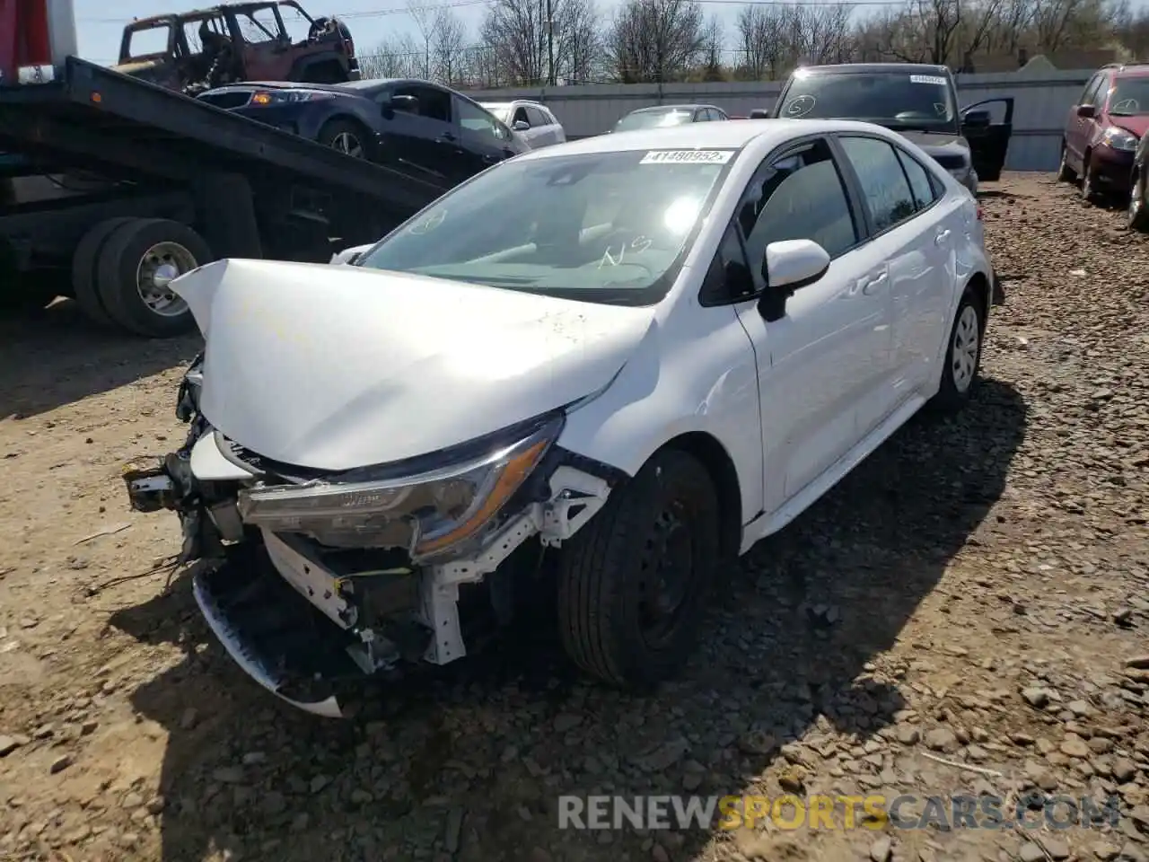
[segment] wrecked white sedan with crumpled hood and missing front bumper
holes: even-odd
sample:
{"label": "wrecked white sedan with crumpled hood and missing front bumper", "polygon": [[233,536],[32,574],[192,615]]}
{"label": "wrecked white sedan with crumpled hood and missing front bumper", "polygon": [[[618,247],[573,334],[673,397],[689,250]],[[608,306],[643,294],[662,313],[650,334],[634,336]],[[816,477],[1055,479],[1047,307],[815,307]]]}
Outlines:
{"label": "wrecked white sedan with crumpled hood and missing front bumper", "polygon": [[350,264],[177,279],[207,344],[192,431],[129,493],[179,513],[209,624],[313,713],[462,657],[540,574],[571,659],[647,684],[730,561],[969,401],[996,284],[976,200],[877,125],[548,147]]}

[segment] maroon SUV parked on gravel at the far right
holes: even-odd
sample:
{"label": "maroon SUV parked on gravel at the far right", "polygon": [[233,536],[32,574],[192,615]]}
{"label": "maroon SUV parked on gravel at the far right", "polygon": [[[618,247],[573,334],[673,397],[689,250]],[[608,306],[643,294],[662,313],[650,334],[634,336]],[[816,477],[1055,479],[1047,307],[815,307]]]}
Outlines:
{"label": "maroon SUV parked on gravel at the far right", "polygon": [[1081,178],[1081,197],[1129,193],[1133,154],[1149,131],[1149,63],[1102,67],[1070,110],[1057,178]]}

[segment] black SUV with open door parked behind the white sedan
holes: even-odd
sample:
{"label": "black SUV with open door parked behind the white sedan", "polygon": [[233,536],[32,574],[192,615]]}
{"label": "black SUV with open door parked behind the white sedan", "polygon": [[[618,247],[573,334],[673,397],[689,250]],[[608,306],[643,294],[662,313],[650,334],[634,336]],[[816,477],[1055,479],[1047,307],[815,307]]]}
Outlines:
{"label": "black SUV with open door parked behind the white sedan", "polygon": [[[993,102],[1005,106],[1003,123],[994,123],[981,108]],[[772,116],[884,125],[921,147],[977,194],[979,179],[1001,177],[1013,129],[1013,99],[987,99],[958,110],[957,86],[944,66],[842,63],[795,69]]]}

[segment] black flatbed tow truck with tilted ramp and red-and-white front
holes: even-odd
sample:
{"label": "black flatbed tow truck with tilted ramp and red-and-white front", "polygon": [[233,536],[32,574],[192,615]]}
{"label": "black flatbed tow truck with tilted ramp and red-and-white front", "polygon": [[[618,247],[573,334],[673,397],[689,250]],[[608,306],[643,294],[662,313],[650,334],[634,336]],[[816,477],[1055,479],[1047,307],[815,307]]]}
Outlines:
{"label": "black flatbed tow truck with tilted ramp and red-and-white front", "polygon": [[171,337],[194,328],[178,276],[325,264],[441,193],[76,54],[72,0],[0,0],[0,293],[36,285]]}

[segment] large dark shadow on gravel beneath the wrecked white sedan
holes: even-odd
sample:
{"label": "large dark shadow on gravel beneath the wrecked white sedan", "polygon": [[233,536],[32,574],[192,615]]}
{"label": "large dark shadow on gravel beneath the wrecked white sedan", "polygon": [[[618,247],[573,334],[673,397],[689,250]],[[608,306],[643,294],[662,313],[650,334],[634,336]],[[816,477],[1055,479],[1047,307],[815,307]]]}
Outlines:
{"label": "large dark shadow on gravel beneath the wrecked white sedan", "polygon": [[[170,732],[162,859],[694,859],[731,836],[560,830],[557,798],[773,795],[778,770],[764,774],[779,746],[803,737],[816,759],[832,731],[864,740],[890,724],[902,700],[865,665],[972,533],[996,528],[984,522],[1025,421],[1018,392],[986,379],[958,418],[911,422],[725,575],[688,672],[656,696],[579,679],[540,615],[457,665],[380,690],[354,719],[313,719],[216,647],[186,583],[118,613],[113,624],[142,641],[185,646],[133,695]],[[882,780],[872,769],[865,786]],[[856,780],[843,788],[859,792]]]}

